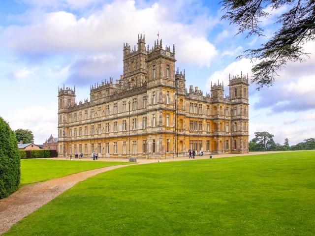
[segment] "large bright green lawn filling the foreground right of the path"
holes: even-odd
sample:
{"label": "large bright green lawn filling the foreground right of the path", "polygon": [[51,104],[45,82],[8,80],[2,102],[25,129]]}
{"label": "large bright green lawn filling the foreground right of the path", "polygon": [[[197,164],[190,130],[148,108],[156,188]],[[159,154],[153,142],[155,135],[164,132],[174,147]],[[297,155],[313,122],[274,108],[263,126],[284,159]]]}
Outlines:
{"label": "large bright green lawn filling the foreground right of the path", "polygon": [[4,235],[314,236],[315,151],[116,169]]}

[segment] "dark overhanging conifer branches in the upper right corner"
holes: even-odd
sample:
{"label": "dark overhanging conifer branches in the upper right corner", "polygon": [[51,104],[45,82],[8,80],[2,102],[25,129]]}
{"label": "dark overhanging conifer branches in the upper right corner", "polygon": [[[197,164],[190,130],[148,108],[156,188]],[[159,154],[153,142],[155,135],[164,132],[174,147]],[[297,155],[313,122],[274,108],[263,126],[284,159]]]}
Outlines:
{"label": "dark overhanging conifer branches in the upper right corner", "polygon": [[225,15],[230,24],[238,26],[238,32],[248,31],[251,35],[263,36],[260,25],[262,18],[270,17],[268,11],[287,7],[288,10],[277,17],[275,24],[281,27],[273,37],[258,49],[248,49],[244,55],[259,62],[252,66],[252,83],[260,88],[272,86],[277,71],[288,61],[303,62],[302,56],[309,56],[302,48],[308,41],[315,41],[315,0],[222,0]]}

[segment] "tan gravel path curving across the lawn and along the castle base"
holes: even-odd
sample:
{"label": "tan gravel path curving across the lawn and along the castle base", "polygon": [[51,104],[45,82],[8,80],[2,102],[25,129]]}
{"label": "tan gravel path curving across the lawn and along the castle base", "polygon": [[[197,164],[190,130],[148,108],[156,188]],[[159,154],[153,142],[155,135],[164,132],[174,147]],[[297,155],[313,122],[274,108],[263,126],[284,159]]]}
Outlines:
{"label": "tan gravel path curving across the lawn and along the castle base", "polygon": [[[267,154],[270,152],[255,152],[249,154],[221,154],[221,155],[213,155],[213,158],[221,158],[221,157],[232,157],[232,156],[244,156],[244,155],[256,155],[256,154]],[[275,152],[272,152],[275,153]],[[209,156],[196,156],[195,159],[188,159],[188,157],[181,157],[175,159],[166,159],[161,160],[165,161],[182,161],[182,160],[197,160],[197,159],[206,159]],[[56,158],[52,158],[55,159]],[[61,158],[58,158],[61,159]],[[64,160],[64,159],[63,159]],[[68,159],[69,160],[69,159]],[[91,158],[84,159],[75,159],[75,161],[92,161]],[[127,159],[101,159],[98,161],[125,161]],[[138,159],[137,164],[147,164],[154,163],[158,160],[142,160]],[[136,164],[135,164],[136,165]],[[14,224],[16,224],[19,220],[23,219],[28,214],[31,214],[33,211],[37,210],[39,207],[45,205],[50,202],[58,195],[71,188],[77,182],[83,181],[88,177],[95,176],[99,173],[114,170],[121,167],[126,167],[130,165],[119,165],[119,166],[110,166],[105,168],[100,168],[96,170],[81,172],[77,174],[73,174],[70,176],[65,176],[61,178],[55,178],[48,180],[46,182],[40,182],[35,184],[25,185],[19,188],[16,192],[10,195],[7,198],[0,200],[0,234],[8,231]]]}

